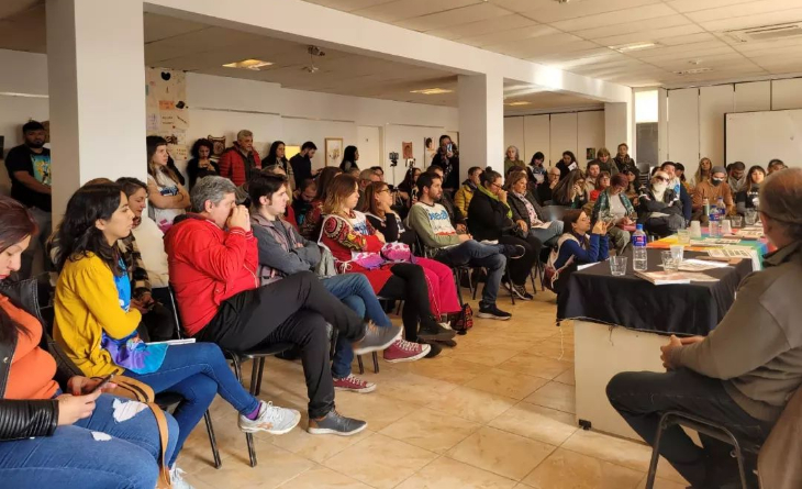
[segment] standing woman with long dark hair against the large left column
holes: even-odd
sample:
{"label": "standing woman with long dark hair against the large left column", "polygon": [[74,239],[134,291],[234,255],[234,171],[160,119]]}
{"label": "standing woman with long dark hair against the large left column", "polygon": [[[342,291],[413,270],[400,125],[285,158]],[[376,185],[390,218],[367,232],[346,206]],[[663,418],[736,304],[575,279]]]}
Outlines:
{"label": "standing woman with long dark hair against the large left column", "polygon": [[163,232],[172,226],[172,220],[185,214],[189,207],[189,192],[179,182],[177,174],[167,166],[167,141],[160,136],[147,136],[147,197],[154,221]]}

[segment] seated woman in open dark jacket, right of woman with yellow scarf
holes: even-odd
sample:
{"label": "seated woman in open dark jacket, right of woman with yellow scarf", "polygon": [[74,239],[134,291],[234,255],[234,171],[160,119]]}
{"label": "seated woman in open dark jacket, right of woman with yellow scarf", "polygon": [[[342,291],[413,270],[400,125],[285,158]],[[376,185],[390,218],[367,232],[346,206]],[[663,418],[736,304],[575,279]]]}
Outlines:
{"label": "seated woman in open dark jacket, right of woman with yellow scarf", "polygon": [[[537,238],[544,246],[554,246],[562,234],[562,221],[546,222],[543,209],[535,197],[527,190],[526,174],[514,173],[506,179],[509,192],[506,203],[512,210],[512,220],[531,236]],[[545,226],[545,227],[544,227]]]}

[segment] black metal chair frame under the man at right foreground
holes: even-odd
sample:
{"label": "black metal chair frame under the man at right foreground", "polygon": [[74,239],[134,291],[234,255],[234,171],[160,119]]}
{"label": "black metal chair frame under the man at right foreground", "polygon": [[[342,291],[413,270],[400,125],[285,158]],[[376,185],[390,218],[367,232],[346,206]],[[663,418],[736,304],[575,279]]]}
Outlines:
{"label": "black metal chair frame under the man at right foreground", "polygon": [[731,445],[733,447],[733,456],[738,463],[738,475],[740,476],[742,489],[748,488],[746,468],[744,463],[744,453],[746,452],[757,455],[760,452],[760,445],[748,441],[738,440],[732,431],[727,430],[724,425],[715,423],[713,421],[680,411],[668,411],[662,414],[662,416],[660,416],[660,424],[657,427],[657,436],[655,437],[655,446],[651,448],[651,462],[649,463],[649,470],[646,478],[645,489],[653,489],[655,487],[657,462],[660,457],[660,438],[662,437],[662,432],[673,425],[688,427],[700,434],[708,435],[712,438]]}

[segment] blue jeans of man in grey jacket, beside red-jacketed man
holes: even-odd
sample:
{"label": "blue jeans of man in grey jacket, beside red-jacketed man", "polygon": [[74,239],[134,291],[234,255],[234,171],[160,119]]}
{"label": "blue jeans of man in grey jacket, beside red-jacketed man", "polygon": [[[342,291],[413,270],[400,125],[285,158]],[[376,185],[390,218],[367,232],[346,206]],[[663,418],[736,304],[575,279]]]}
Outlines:
{"label": "blue jeans of man in grey jacket, beside red-jacketed man", "polygon": [[[361,274],[345,274],[335,277],[324,278],[323,287],[332,296],[342,300],[345,305],[363,318],[367,318],[380,327],[390,327],[392,323],[385,314],[381,303],[376,298],[368,278]],[[350,340],[337,336],[337,344],[334,347],[334,359],[332,360],[332,376],[337,379],[350,375],[350,363],[354,362],[354,348]]]}

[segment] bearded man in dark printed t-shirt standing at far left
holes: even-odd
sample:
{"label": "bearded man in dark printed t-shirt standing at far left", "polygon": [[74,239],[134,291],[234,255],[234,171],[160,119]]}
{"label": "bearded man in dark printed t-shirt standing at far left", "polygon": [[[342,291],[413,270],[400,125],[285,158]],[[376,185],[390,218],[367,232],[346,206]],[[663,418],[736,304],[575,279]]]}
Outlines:
{"label": "bearded man in dark printed t-shirt standing at far left", "polygon": [[[22,126],[24,142],[11,148],[5,168],[11,179],[11,197],[25,204],[36,220],[38,234],[22,254],[20,278],[30,278],[36,253],[44,254],[51,235],[51,151],[44,147],[45,126],[30,121]],[[38,244],[37,244],[38,243]],[[45,267],[49,260],[45,257]]]}

